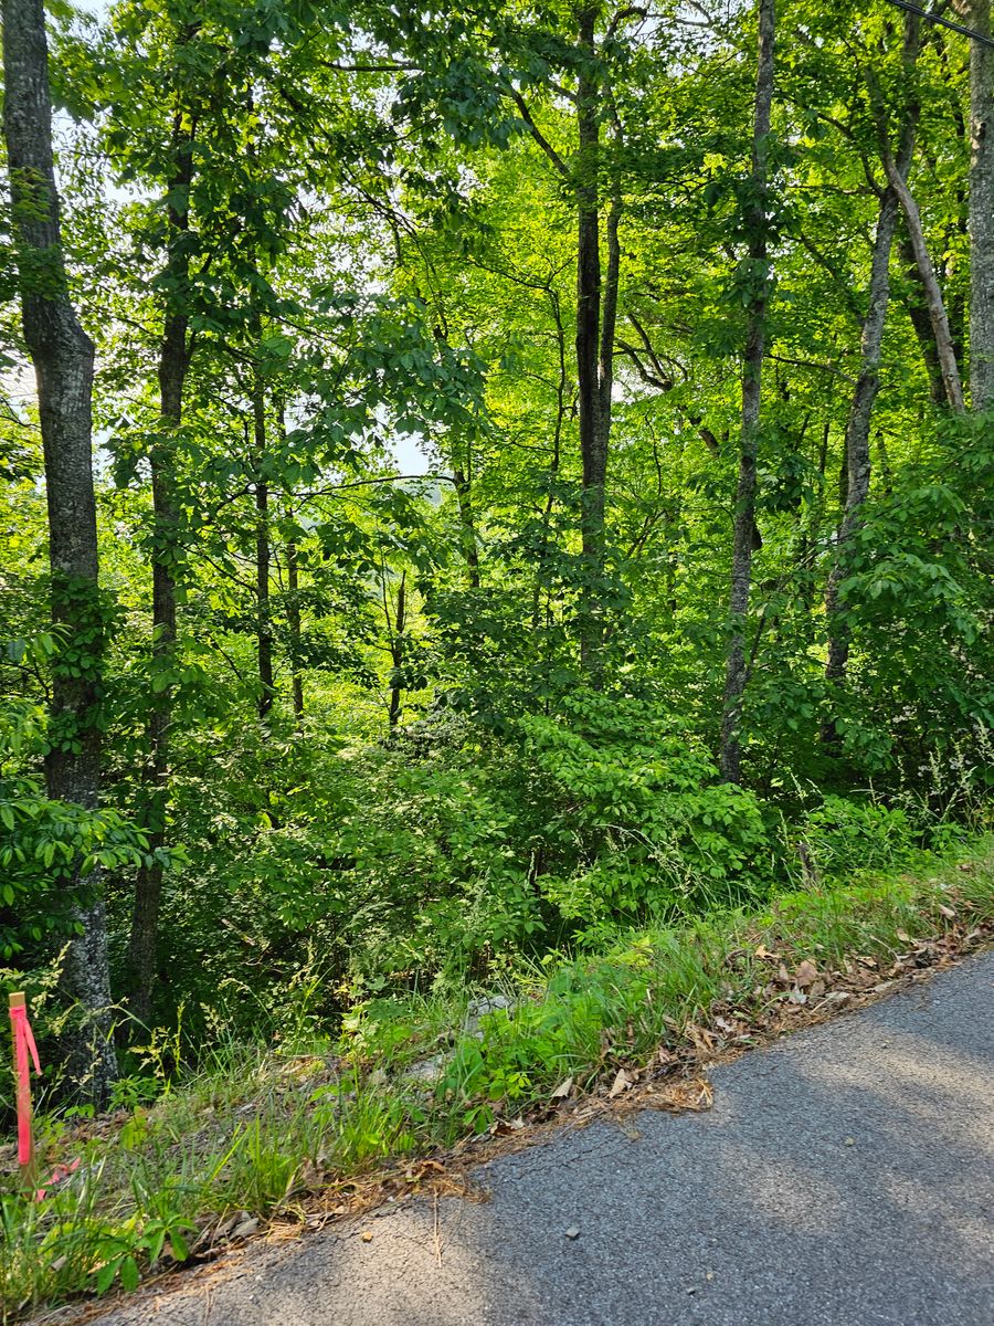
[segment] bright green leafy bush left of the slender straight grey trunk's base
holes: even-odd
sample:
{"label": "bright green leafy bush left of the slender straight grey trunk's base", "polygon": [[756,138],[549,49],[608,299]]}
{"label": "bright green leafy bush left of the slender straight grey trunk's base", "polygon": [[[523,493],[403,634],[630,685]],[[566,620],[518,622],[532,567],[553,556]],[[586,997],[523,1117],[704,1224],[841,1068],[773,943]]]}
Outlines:
{"label": "bright green leafy bush left of the slender straight grey trunk's base", "polygon": [[[718,781],[702,743],[649,703],[574,697],[571,721],[522,720],[547,785],[543,894],[580,924],[741,902],[771,882],[758,798]],[[566,867],[566,869],[562,869]]]}

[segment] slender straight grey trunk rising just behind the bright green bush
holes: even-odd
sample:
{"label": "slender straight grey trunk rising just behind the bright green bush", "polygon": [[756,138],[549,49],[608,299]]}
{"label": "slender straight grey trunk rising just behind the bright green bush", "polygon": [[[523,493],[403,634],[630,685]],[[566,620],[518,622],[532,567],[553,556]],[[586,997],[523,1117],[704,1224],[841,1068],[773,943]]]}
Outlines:
{"label": "slender straight grey trunk rising just behind the bright green bush", "polygon": [[[738,453],[736,520],[732,540],[732,590],[729,617],[732,639],[725,668],[725,696],[721,720],[721,773],[728,782],[740,782],[740,716],[746,687],[745,623],[753,581],[753,529],[755,525],[755,461],[762,406],[762,366],[766,347],[766,192],[769,187],[766,152],[773,111],[773,56],[777,32],[774,0],[759,0],[759,44],[755,68],[755,111],[753,123],[753,203],[746,216],[749,261],[757,281],[749,305],[745,355],[742,362],[742,434]],[[762,272],[762,277],[755,273]]]}

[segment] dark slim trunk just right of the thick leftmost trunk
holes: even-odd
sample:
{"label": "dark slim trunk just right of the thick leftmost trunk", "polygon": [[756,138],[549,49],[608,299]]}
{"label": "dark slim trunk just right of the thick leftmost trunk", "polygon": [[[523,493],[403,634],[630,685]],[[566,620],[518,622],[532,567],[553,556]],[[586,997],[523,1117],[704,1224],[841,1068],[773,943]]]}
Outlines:
{"label": "dark slim trunk just right of the thick leftmost trunk", "polygon": [[190,282],[188,198],[193,176],[192,131],[176,121],[172,149],[176,170],[170,180],[167,208],[170,247],[166,260],[168,292],[159,343],[159,432],[150,448],[152,477],[152,672],[160,690],[152,691],[148,719],[148,758],[144,769],[143,823],[148,834],[150,865],[135,879],[127,965],[131,981],[129,998],[134,1017],[147,1024],[152,1014],[156,981],[159,912],[162,908],[163,865],[168,818],[170,733],[175,701],[176,660],[176,565],[179,549],[179,504],[175,495],[176,434],[183,423],[183,392],[190,369],[188,317]]}

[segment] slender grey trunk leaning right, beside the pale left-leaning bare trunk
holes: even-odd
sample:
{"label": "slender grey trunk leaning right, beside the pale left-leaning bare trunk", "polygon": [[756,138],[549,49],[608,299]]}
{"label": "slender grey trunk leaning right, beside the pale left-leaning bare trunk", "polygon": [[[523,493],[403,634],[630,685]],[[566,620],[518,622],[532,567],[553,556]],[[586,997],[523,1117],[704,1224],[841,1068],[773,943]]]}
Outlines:
{"label": "slender grey trunk leaning right, beside the pale left-leaning bare trunk", "polygon": [[[905,80],[911,82],[920,46],[920,20],[908,15],[904,25],[903,62]],[[914,152],[914,133],[918,123],[918,105],[909,102],[900,130],[897,156],[893,160],[893,175],[901,183],[908,178]],[[888,151],[889,155],[889,151]],[[888,175],[891,172],[888,171]],[[873,416],[873,403],[880,390],[880,359],[887,325],[887,308],[891,298],[891,252],[893,249],[901,207],[892,186],[880,198],[876,233],[873,236],[873,256],[869,267],[869,290],[867,292],[867,312],[863,318],[860,338],[860,370],[852,392],[850,418],[846,424],[846,500],[839,525],[838,550],[826,587],[824,610],[828,621],[828,660],[824,675],[830,682],[838,682],[846,675],[850,660],[850,633],[839,618],[839,586],[848,570],[848,545],[863,518],[863,505],[869,496],[871,456],[869,426]],[[822,740],[834,744],[838,733],[835,723],[828,719],[822,728]]]}

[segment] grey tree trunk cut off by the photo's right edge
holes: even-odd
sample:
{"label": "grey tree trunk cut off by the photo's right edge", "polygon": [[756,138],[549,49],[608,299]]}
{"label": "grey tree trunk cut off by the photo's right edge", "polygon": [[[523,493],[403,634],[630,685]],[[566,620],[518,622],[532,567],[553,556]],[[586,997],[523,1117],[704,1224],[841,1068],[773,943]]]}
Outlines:
{"label": "grey tree trunk cut off by the photo's right edge", "polygon": [[[991,36],[990,0],[970,0],[970,23]],[[970,404],[994,406],[994,50],[970,42]]]}

